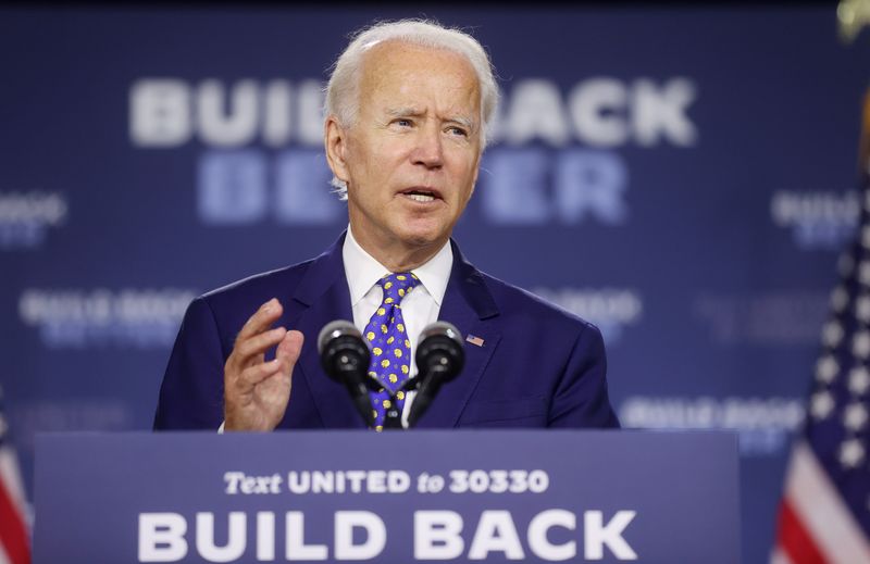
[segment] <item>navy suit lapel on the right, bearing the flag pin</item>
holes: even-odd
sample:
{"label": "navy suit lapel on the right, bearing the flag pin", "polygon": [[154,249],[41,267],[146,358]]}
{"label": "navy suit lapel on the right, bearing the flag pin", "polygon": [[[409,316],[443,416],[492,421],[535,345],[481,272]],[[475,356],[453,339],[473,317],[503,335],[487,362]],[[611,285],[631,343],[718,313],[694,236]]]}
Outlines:
{"label": "navy suit lapel on the right, bearing the flag pin", "polygon": [[442,388],[420,419],[420,428],[455,427],[459,423],[459,417],[501,338],[498,326],[493,321],[493,317],[498,316],[498,308],[483,276],[465,261],[456,242],[451,240],[450,245],[453,266],[438,318],[456,325],[463,339],[470,335],[483,339],[483,346],[464,342],[465,365],[462,372]]}

